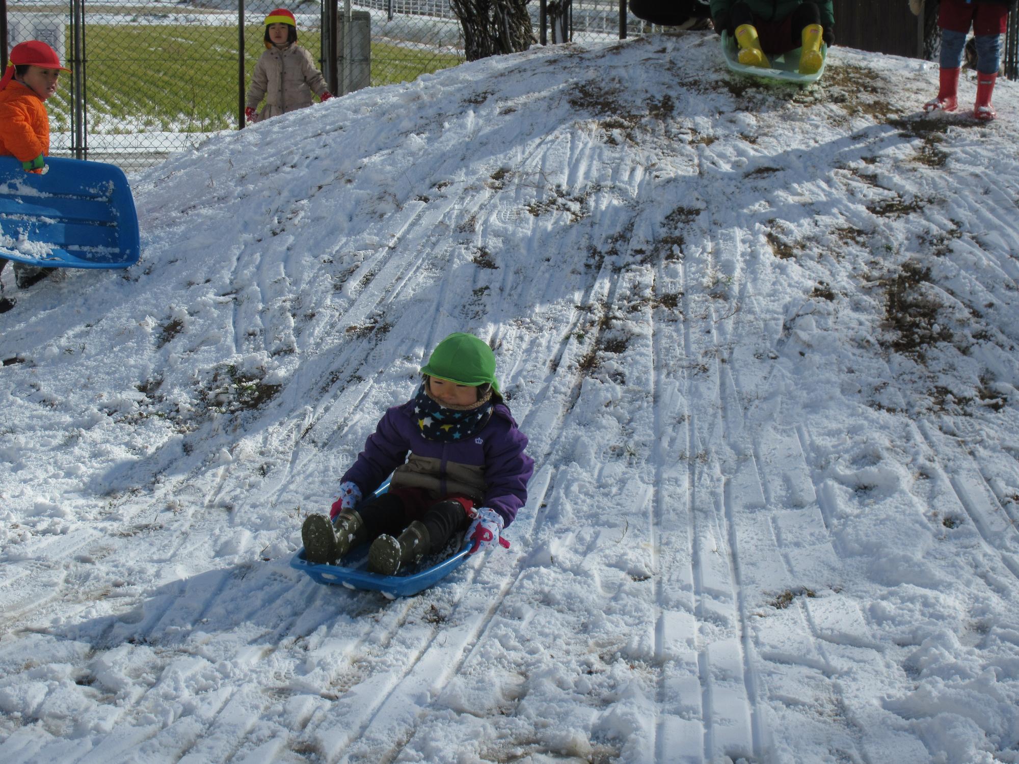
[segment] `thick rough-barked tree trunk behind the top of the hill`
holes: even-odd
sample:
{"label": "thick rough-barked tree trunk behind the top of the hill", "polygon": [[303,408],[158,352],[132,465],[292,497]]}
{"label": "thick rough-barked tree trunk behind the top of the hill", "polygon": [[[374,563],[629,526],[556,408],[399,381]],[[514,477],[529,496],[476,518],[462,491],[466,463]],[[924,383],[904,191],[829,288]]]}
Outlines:
{"label": "thick rough-barked tree trunk behind the top of the hill", "polygon": [[528,0],[449,0],[464,28],[464,52],[468,61],[517,53],[534,42]]}

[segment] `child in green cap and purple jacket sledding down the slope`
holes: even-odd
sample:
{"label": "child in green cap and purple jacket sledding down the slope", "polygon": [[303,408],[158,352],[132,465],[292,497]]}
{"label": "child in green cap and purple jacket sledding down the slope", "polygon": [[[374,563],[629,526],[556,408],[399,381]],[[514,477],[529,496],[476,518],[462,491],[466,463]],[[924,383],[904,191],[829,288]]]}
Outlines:
{"label": "child in green cap and purple jacket sledding down the slope", "polygon": [[[371,542],[368,569],[393,576],[469,523],[472,552],[509,545],[500,533],[527,501],[534,461],[499,394],[495,356],[458,332],[421,372],[417,394],[385,413],[343,475],[329,517],[305,521],[309,562],[332,563]],[[389,490],[362,503],[390,473]]]}

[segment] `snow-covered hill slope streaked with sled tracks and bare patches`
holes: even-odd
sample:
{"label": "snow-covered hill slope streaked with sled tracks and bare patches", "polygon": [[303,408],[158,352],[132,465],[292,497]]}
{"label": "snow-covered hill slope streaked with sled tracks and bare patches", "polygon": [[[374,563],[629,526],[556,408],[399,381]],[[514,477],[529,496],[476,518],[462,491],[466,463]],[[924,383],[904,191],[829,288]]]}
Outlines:
{"label": "snow-covered hill slope streaked with sled tracks and bare patches", "polygon": [[[1019,87],[935,81],[537,48],[135,177],[143,262],[0,317],[0,761],[1019,762]],[[293,571],[455,330],[512,548]]]}

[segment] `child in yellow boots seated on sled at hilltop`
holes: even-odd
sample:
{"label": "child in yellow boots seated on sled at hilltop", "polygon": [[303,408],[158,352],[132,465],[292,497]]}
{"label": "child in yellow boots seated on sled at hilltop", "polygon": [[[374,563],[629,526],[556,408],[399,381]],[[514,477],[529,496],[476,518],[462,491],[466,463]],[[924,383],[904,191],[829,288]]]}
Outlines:
{"label": "child in yellow boots seated on sled at hilltop", "polygon": [[813,74],[824,63],[821,42],[835,45],[832,1],[711,0],[711,19],[719,35],[735,36],[744,66],[768,68],[768,53],[802,48],[799,72]]}

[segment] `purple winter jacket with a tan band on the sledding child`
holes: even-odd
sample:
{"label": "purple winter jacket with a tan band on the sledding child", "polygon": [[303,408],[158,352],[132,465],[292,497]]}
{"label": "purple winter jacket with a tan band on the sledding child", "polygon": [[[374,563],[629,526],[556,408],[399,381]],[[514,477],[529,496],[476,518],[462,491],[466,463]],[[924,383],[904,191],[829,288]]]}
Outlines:
{"label": "purple winter jacket with a tan band on the sledding child", "polygon": [[425,488],[436,498],[466,494],[501,514],[506,526],[513,523],[527,502],[534,459],[524,453],[527,436],[509,408],[496,403],[472,438],[442,443],[421,434],[414,406],[412,399],[386,411],[341,482],[356,483],[367,497],[392,473],[391,488]]}

